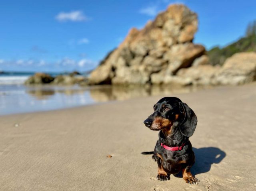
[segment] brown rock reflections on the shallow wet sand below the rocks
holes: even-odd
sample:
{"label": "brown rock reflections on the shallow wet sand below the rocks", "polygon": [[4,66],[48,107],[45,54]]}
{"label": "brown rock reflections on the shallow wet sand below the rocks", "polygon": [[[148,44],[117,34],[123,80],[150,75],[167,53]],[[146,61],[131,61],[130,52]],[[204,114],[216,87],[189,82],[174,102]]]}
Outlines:
{"label": "brown rock reflections on the shallow wet sand below the rocks", "polygon": [[[206,87],[204,87],[206,88]],[[190,93],[203,89],[203,87],[173,87],[173,86],[148,86],[148,87],[123,87],[123,86],[93,86],[93,87],[33,87],[26,93],[37,99],[49,99],[54,94],[83,95],[88,92],[95,102],[106,102],[110,100],[126,100],[134,97],[163,95],[171,96],[174,93]]]}

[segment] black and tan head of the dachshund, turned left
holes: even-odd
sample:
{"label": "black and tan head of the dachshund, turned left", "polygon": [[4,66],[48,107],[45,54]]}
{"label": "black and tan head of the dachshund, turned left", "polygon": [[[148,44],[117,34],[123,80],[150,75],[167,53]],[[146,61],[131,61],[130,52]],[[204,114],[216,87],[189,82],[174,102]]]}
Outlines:
{"label": "black and tan head of the dachshund, turned left", "polygon": [[196,129],[197,117],[193,110],[176,97],[164,97],[154,105],[154,113],[144,124],[154,131],[179,127],[180,132],[187,137],[192,136]]}

